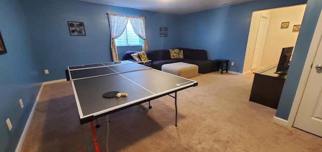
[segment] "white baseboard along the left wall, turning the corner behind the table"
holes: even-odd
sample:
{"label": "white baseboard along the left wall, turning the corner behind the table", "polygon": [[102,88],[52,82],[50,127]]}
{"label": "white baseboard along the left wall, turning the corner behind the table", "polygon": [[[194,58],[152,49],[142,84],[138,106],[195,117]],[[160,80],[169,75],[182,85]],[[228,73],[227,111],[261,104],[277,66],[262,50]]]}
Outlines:
{"label": "white baseboard along the left wall, turning the corner behind the table", "polygon": [[41,91],[42,91],[42,88],[45,84],[51,84],[51,83],[57,83],[57,82],[64,82],[66,81],[66,79],[60,79],[60,80],[53,80],[53,81],[47,81],[47,82],[43,82],[41,84],[41,87],[39,89],[39,92],[38,92],[38,95],[37,95],[37,98],[36,98],[36,101],[31,109],[31,112],[29,114],[29,118],[26,122],[26,125],[25,125],[25,128],[24,128],[24,131],[22,132],[21,136],[20,136],[20,139],[19,139],[19,142],[18,142],[18,145],[16,147],[16,152],[20,152],[21,151],[21,148],[22,148],[22,145],[24,144],[24,141],[25,141],[25,138],[26,138],[26,135],[27,135],[27,132],[28,132],[28,129],[29,129],[29,126],[30,126],[30,123],[31,123],[31,119],[32,117],[34,116],[34,113],[35,113],[35,110],[36,110],[36,106],[37,106],[37,103],[39,101],[39,97],[40,97],[40,94],[41,94]]}

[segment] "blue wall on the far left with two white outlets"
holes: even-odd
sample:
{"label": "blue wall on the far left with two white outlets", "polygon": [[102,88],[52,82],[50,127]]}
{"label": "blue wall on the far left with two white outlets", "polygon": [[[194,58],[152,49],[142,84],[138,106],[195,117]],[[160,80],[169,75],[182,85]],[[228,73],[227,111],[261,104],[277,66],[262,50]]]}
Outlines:
{"label": "blue wall on the far left with two white outlets", "polygon": [[[14,151],[40,89],[35,52],[18,0],[0,0],[0,31],[8,53],[0,55],[0,151]],[[19,99],[24,102],[21,108]],[[13,128],[6,124],[10,118]]]}

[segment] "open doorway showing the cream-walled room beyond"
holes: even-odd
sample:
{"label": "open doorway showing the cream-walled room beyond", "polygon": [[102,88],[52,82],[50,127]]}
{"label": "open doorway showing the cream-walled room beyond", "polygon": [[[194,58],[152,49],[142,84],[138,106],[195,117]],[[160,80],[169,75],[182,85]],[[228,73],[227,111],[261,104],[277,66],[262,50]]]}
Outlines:
{"label": "open doorway showing the cream-walled room beyond", "polygon": [[[264,69],[278,64],[282,48],[295,47],[298,32],[293,32],[292,30],[294,25],[302,23],[305,7],[306,5],[297,5],[253,12],[243,74],[251,73],[254,68]],[[255,47],[258,47],[257,39],[258,34],[261,32],[260,22],[262,15],[269,17],[267,33],[265,38],[262,39],[264,40],[261,43],[261,46],[263,46],[262,52],[254,52],[257,49]],[[289,22],[289,26],[281,28],[283,22]]]}

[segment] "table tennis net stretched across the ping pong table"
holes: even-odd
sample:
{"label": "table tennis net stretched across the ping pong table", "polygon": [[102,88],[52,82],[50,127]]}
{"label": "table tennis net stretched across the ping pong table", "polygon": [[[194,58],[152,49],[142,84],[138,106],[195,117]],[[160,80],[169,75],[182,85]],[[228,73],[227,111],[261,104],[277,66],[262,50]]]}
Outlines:
{"label": "table tennis net stretched across the ping pong table", "polygon": [[151,67],[142,65],[140,63],[142,62],[121,61],[69,66],[68,76],[70,80],[78,80],[151,69]]}

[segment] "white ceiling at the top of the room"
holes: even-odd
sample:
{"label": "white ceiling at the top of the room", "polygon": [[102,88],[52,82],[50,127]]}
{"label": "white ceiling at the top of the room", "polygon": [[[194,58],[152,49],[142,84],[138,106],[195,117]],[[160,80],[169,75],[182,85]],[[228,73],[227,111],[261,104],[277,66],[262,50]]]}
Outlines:
{"label": "white ceiling at the top of the room", "polygon": [[[139,10],[186,15],[255,0],[78,0]],[[226,5],[219,6],[219,4]]]}

